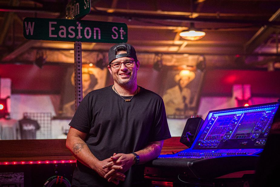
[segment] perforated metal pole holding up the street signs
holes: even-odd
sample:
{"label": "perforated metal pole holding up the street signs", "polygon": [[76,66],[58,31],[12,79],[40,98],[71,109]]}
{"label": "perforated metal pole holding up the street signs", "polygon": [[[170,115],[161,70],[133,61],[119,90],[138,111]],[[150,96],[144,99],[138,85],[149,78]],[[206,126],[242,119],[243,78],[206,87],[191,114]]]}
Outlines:
{"label": "perforated metal pole holding up the street signs", "polygon": [[83,99],[83,85],[82,85],[82,44],[81,42],[74,42],[74,75],[75,75],[75,109],[77,110],[79,104]]}

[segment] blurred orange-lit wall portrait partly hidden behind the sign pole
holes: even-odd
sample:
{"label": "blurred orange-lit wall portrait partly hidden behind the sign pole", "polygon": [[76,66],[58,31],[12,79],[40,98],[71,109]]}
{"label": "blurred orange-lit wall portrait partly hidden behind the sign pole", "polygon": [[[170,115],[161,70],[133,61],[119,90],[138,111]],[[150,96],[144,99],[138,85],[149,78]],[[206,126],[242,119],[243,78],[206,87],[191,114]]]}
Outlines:
{"label": "blurred orange-lit wall portrait partly hidden behind the sign pole", "polygon": [[[86,96],[92,90],[105,87],[107,72],[107,68],[82,68],[83,97]],[[61,96],[60,116],[73,117],[74,113],[76,112],[74,68],[68,68],[64,82],[64,88]]]}

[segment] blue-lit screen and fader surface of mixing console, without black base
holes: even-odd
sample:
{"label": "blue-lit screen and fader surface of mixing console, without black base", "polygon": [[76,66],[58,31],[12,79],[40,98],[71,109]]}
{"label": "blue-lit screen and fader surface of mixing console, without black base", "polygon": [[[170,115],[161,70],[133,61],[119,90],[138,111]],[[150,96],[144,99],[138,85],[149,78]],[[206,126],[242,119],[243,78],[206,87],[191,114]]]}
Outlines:
{"label": "blue-lit screen and fader surface of mixing console, without black base", "polygon": [[159,158],[208,158],[262,152],[279,103],[210,111],[193,145]]}

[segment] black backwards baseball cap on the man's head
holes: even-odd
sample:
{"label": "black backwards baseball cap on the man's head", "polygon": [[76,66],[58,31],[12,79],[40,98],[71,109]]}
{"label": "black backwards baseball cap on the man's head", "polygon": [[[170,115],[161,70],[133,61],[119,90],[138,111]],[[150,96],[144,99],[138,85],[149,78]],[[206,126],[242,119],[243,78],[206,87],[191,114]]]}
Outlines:
{"label": "black backwards baseball cap on the man's head", "polygon": [[[116,50],[118,48],[124,48],[127,53],[116,55]],[[119,44],[111,47],[108,52],[108,56],[109,56],[109,65],[116,58],[126,57],[126,56],[131,57],[137,61],[136,51],[135,51],[134,47],[132,45],[126,44],[126,43],[119,43]]]}

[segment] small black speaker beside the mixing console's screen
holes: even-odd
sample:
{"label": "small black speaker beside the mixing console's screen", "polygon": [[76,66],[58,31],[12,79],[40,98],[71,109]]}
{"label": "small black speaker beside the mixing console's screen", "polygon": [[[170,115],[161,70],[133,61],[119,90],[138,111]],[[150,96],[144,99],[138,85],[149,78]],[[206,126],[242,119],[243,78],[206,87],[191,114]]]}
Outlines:
{"label": "small black speaker beside the mixing console's screen", "polygon": [[180,142],[188,147],[192,146],[193,140],[202,127],[204,120],[200,117],[189,118],[183,130]]}

